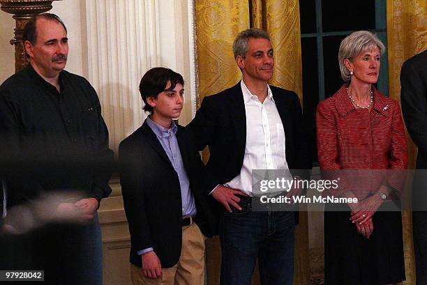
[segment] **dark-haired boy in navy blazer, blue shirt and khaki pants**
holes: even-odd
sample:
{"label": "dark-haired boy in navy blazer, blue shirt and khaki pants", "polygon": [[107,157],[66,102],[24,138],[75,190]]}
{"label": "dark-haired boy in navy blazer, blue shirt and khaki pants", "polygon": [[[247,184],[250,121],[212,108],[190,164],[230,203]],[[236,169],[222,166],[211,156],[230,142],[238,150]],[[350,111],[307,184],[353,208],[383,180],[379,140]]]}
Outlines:
{"label": "dark-haired boy in navy blazer, blue shirt and khaki pants", "polygon": [[141,79],[142,126],[119,146],[121,189],[130,230],[133,284],[204,285],[204,236],[215,219],[204,165],[188,130],[174,123],[183,78],[152,68]]}

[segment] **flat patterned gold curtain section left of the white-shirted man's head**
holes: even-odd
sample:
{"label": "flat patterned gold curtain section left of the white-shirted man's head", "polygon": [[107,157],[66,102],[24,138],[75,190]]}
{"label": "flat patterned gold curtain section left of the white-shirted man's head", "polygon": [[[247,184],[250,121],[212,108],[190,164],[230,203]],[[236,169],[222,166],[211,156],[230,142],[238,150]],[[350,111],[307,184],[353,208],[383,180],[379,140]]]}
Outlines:
{"label": "flat patterned gold curtain section left of the white-shirted man's head", "polygon": [[199,98],[218,93],[241,79],[232,44],[249,28],[248,0],[196,0]]}

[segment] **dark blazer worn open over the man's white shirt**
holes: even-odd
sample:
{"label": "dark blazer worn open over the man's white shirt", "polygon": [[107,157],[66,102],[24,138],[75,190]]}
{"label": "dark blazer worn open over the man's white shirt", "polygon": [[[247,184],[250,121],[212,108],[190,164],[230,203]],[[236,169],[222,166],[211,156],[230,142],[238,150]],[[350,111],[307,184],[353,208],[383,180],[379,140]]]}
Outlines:
{"label": "dark blazer worn open over the man's white shirt", "polygon": [[[293,91],[270,86],[285,130],[285,155],[294,175],[309,178],[311,160],[299,98]],[[240,82],[216,95],[205,97],[189,128],[197,148],[209,147],[207,168],[218,183],[238,176],[246,147],[246,111]]]}

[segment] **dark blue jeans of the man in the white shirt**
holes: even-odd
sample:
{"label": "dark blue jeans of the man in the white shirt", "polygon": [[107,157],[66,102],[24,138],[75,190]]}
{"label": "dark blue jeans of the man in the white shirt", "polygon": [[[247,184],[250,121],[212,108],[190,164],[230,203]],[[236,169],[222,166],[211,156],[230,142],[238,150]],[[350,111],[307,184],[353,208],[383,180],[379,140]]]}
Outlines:
{"label": "dark blue jeans of the man in the white shirt", "polygon": [[292,285],[294,213],[255,212],[250,199],[239,205],[242,210],[225,212],[221,220],[220,284],[250,285],[258,258],[261,285]]}

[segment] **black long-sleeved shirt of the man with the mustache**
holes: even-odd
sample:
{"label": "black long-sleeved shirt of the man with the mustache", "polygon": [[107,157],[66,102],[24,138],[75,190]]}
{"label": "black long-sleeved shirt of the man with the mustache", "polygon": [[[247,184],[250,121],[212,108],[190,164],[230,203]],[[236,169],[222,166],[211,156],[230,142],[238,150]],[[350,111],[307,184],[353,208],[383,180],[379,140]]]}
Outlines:
{"label": "black long-sleeved shirt of the man with the mustache", "polygon": [[[60,90],[29,65],[0,86],[0,137],[8,206],[49,190],[107,197],[112,151],[96,91],[65,70]],[[3,174],[4,175],[4,174]]]}

